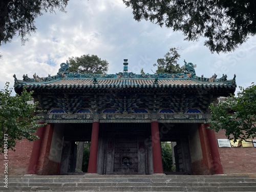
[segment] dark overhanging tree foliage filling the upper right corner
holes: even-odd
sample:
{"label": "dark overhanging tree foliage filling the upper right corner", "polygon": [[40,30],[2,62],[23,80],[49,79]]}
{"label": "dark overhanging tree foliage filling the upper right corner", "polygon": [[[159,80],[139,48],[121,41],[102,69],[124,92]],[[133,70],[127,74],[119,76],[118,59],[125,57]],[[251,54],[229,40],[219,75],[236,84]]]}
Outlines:
{"label": "dark overhanging tree foliage filling the upper right corner", "polygon": [[205,37],[211,52],[230,52],[256,34],[255,0],[123,0],[134,18],[182,31],[185,40]]}

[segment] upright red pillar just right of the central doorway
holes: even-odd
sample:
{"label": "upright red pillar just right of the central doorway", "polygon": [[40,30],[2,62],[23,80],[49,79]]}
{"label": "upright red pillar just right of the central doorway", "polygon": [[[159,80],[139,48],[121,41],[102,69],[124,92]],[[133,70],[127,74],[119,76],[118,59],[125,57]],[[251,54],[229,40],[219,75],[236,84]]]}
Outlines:
{"label": "upright red pillar just right of the central doorway", "polygon": [[151,135],[152,135],[154,174],[162,174],[163,166],[162,166],[161,142],[160,142],[159,127],[158,127],[157,121],[151,122]]}

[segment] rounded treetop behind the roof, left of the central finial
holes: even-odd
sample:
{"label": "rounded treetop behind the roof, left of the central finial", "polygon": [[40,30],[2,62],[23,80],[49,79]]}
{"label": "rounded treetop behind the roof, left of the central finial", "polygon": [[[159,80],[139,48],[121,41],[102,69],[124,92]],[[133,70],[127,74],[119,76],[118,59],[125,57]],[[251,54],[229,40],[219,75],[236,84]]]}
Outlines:
{"label": "rounded treetop behind the roof, left of the central finial", "polygon": [[82,55],[69,57],[70,72],[77,73],[104,73],[109,69],[109,62],[101,60],[97,55]]}

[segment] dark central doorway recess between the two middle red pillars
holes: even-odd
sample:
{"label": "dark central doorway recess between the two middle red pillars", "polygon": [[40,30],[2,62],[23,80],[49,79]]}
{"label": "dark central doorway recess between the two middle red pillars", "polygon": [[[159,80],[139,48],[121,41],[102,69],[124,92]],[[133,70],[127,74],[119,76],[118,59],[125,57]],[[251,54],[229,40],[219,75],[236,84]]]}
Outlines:
{"label": "dark central doorway recess between the two middle red pillars", "polygon": [[150,174],[150,124],[109,124],[104,130],[103,174]]}

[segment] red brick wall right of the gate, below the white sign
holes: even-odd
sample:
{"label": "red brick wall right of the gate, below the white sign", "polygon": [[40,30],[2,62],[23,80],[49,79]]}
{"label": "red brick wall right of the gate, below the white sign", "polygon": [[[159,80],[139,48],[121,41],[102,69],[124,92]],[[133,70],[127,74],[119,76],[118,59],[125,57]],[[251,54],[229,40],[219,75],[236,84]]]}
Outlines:
{"label": "red brick wall right of the gate, below the white sign", "polygon": [[[225,132],[216,133],[216,139],[225,139]],[[256,173],[256,147],[218,148],[224,174]]]}

